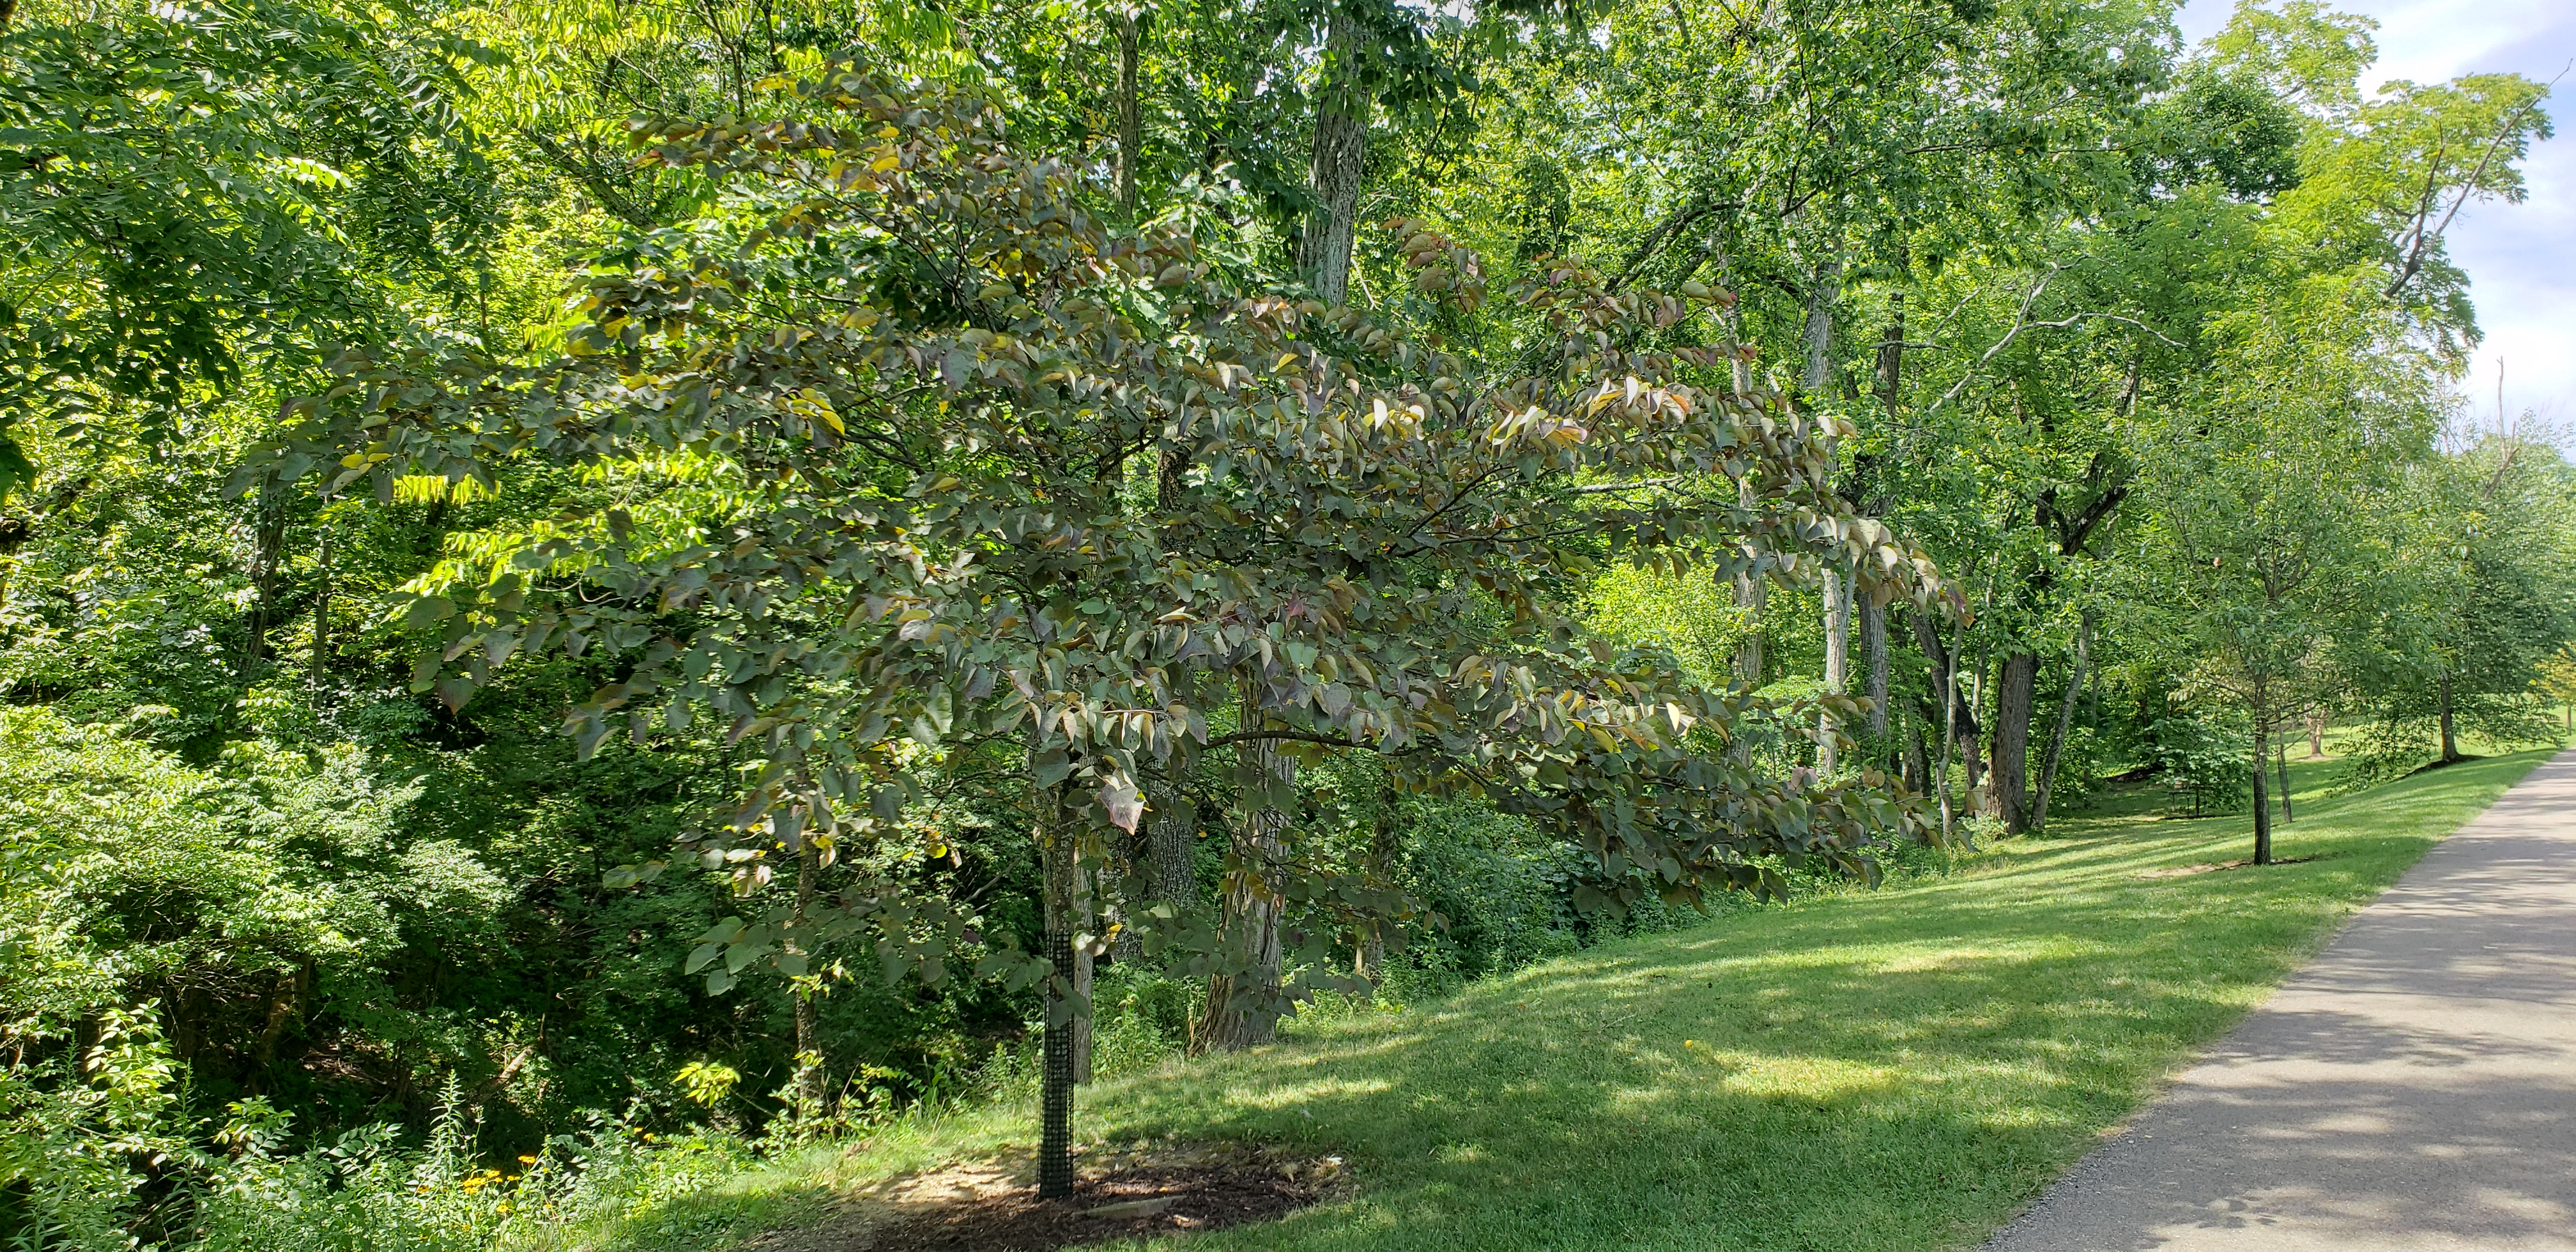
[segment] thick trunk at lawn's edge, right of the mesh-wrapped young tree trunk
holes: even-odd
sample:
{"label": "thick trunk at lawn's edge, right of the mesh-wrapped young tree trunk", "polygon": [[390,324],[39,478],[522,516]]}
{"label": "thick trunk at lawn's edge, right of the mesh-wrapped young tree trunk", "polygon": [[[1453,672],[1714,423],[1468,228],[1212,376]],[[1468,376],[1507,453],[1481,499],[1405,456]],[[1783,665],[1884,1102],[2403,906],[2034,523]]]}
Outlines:
{"label": "thick trunk at lawn's edge, right of the mesh-wrapped young tree trunk", "polygon": [[[1244,729],[1262,724],[1255,685],[1244,683]],[[1278,1038],[1280,1018],[1280,894],[1270,884],[1296,804],[1296,760],[1275,739],[1236,745],[1244,811],[1234,830],[1234,871],[1226,881],[1224,940],[1229,971],[1208,979],[1200,1048],[1249,1048]]]}

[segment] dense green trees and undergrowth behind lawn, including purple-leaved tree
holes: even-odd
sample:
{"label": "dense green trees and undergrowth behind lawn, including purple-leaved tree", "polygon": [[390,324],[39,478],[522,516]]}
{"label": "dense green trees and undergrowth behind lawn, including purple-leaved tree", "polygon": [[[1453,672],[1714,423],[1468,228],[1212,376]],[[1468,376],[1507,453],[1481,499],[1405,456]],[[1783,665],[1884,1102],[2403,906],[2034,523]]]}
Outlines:
{"label": "dense green trees and undergrowth behind lawn, including purple-leaved tree", "polygon": [[1061,1188],[1316,1005],[2555,742],[2576,474],[2442,245],[2548,88],[2372,59],[0,0],[0,1231],[430,1247],[1023,1077]]}

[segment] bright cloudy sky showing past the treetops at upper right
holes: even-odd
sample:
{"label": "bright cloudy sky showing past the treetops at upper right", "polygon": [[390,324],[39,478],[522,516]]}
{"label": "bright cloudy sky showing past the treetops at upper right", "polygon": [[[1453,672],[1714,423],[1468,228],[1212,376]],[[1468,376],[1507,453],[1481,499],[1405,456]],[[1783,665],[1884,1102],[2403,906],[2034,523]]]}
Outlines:
{"label": "bright cloudy sky showing past the treetops at upper right", "polygon": [[[2380,64],[2362,88],[2403,77],[2445,82],[2470,72],[2517,72],[2548,82],[2576,62],[2576,3],[2568,0],[2329,0],[2378,18]],[[2182,36],[2192,44],[2228,23],[2236,0],[2190,0]],[[2576,425],[2576,72],[2543,103],[2558,139],[2532,147],[2522,204],[2470,201],[2450,224],[2450,258],[2468,270],[2478,304],[2478,361],[2460,384],[2478,417],[2496,420],[2496,366],[2504,410]]]}

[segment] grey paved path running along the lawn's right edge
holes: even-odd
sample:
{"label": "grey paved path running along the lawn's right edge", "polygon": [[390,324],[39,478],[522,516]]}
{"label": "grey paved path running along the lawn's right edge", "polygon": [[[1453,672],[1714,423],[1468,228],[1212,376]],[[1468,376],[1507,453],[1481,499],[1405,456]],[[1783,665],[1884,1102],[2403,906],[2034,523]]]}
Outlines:
{"label": "grey paved path running along the lawn's right edge", "polygon": [[2576,1252],[2576,752],[1986,1244],[2128,1249]]}

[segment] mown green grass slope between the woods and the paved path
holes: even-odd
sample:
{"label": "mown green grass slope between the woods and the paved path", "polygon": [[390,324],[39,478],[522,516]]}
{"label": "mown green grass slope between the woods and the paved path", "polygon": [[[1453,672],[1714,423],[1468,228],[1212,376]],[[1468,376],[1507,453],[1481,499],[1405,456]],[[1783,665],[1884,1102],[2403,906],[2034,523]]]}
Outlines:
{"label": "mown green grass slope between the woods and the paved path", "polygon": [[[1919,886],[1736,915],[1412,1012],[1309,1028],[1084,1097],[1095,1139],[1340,1152],[1347,1200],[1188,1247],[1937,1249],[1989,1234],[2360,902],[2545,752],[2326,799],[2269,871],[2246,819],[2063,822]],[[1033,1136],[992,1110],[809,1157],[667,1213],[811,1219],[822,1195]],[[644,1231],[636,1231],[644,1234]]]}

